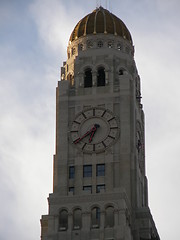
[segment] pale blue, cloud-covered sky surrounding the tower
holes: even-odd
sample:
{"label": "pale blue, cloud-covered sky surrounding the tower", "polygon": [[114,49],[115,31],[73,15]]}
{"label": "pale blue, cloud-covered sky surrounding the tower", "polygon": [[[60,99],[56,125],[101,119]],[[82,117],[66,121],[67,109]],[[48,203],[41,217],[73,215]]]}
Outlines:
{"label": "pale blue, cloud-covered sky surrounding the tower", "polygon": [[[95,0],[0,0],[0,239],[40,239],[55,153],[55,93],[76,23]],[[149,206],[180,239],[180,1],[101,0],[131,32],[145,112]]]}

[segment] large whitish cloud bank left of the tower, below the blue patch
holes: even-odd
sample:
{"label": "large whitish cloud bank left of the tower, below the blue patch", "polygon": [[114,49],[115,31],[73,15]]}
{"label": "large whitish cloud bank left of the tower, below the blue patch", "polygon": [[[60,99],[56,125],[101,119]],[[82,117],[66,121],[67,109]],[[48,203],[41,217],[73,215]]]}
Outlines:
{"label": "large whitish cloud bank left of the tower, below the blue patch", "polygon": [[0,52],[0,239],[32,240],[52,189],[58,71],[8,38]]}

